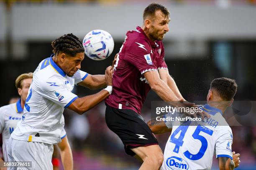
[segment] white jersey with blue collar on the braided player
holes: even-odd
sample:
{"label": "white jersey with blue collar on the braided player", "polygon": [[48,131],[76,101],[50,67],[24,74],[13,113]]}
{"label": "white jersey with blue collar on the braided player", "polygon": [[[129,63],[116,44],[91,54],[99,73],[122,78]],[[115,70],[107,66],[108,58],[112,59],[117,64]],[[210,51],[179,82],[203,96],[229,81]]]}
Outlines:
{"label": "white jersey with blue collar on the braided player", "polygon": [[77,99],[72,93],[74,85],[87,76],[88,73],[78,70],[69,77],[52,56],[41,61],[33,74],[22,119],[11,137],[48,144],[61,142],[64,108]]}

